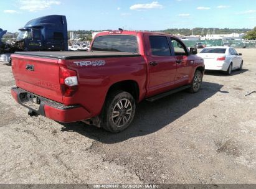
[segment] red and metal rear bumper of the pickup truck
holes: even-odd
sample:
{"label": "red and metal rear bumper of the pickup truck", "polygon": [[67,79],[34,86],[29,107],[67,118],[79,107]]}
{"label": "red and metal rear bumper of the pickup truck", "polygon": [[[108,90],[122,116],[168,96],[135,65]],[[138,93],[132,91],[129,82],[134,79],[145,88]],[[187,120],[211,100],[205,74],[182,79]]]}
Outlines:
{"label": "red and metal rear bumper of the pickup truck", "polygon": [[[55,121],[75,122],[90,118],[90,113],[80,105],[65,106],[21,88],[12,88],[11,94],[17,103]],[[37,97],[38,103],[32,101],[33,96]]]}

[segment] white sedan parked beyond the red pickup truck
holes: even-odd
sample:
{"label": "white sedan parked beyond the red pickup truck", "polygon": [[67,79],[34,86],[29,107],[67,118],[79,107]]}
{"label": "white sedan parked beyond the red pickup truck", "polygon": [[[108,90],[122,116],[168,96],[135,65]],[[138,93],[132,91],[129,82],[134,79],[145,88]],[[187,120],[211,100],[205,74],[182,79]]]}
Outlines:
{"label": "white sedan parked beyond the red pickup truck", "polygon": [[198,56],[204,59],[206,70],[226,71],[228,75],[232,70],[242,70],[241,55],[232,47],[206,47],[198,53]]}

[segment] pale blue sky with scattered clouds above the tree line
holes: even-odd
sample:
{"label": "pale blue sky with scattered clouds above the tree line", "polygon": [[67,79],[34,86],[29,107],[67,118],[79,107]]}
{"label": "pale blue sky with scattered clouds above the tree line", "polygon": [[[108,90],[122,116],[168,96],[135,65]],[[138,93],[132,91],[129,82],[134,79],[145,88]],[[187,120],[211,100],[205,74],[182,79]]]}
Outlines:
{"label": "pale blue sky with scattered clouds above the tree line", "polygon": [[256,26],[255,0],[1,0],[0,28],[17,32],[31,19],[67,17],[68,30],[163,30]]}

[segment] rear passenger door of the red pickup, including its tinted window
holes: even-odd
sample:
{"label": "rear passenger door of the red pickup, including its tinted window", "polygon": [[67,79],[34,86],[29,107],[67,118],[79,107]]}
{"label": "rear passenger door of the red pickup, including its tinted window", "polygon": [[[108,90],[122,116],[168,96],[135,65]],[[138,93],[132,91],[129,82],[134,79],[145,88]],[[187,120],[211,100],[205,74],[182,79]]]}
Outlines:
{"label": "rear passenger door of the red pickup, including its tinted window", "polygon": [[176,59],[171,56],[168,37],[145,35],[147,63],[149,67],[148,96],[153,96],[173,86],[176,75]]}

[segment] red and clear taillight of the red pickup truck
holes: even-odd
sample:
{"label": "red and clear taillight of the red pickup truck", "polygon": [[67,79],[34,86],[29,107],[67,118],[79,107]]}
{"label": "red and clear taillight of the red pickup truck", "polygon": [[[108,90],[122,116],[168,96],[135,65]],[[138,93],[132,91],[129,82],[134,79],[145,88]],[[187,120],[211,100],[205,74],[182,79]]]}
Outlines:
{"label": "red and clear taillight of the red pickup truck", "polygon": [[77,71],[60,67],[60,88],[63,96],[72,96],[78,89]]}

